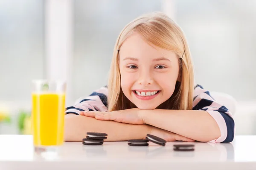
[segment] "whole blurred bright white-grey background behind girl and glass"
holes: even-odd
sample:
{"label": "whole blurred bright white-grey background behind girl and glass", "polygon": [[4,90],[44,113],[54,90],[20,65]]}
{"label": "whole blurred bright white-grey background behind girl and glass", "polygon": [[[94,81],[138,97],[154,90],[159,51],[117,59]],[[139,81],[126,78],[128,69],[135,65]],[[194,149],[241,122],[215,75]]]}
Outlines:
{"label": "whole blurred bright white-grey background behind girl and glass", "polygon": [[33,79],[67,80],[67,106],[105,86],[122,28],[162,11],[185,32],[196,82],[238,101],[236,135],[256,135],[255,9],[256,0],[0,0],[0,134],[29,132]]}

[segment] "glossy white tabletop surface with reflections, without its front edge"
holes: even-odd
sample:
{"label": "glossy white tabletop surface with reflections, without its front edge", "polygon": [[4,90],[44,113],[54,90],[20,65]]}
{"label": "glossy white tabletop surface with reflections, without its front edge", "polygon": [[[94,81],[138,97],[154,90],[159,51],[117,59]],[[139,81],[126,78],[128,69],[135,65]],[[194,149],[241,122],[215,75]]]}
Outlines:
{"label": "glossy white tabletop surface with reflections, without its front edge", "polygon": [[[256,161],[256,136],[236,136],[232,143],[167,142],[165,147],[131,147],[126,141],[85,146],[66,142],[56,155],[34,152],[31,135],[0,135],[0,161],[159,161],[222,162]],[[174,151],[174,144],[195,144],[195,151]]]}

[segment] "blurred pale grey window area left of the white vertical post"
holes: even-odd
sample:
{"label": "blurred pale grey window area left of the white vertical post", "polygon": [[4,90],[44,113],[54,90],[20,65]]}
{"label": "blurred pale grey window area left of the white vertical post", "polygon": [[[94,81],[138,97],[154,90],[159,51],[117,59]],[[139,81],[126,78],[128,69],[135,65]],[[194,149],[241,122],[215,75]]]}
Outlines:
{"label": "blurred pale grey window area left of the white vertical post", "polygon": [[0,101],[28,103],[31,80],[44,78],[43,9],[43,0],[0,0]]}

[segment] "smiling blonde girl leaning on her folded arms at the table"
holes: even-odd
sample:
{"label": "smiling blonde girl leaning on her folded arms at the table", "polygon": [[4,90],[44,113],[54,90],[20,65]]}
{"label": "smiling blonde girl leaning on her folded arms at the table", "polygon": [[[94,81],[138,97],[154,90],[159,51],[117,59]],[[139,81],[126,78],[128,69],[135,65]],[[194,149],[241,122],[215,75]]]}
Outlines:
{"label": "smiling blonde girl leaning on her folded arms at the table", "polygon": [[108,86],[67,107],[65,140],[87,132],[108,141],[145,138],[231,142],[234,120],[209,91],[194,85],[186,38],[163,13],[128,23],[116,40]]}

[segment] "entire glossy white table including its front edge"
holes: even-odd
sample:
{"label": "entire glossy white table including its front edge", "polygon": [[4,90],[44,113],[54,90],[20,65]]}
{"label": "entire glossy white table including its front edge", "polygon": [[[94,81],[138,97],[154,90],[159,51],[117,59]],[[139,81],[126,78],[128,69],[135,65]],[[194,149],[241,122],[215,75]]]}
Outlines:
{"label": "entire glossy white table including its front edge", "polygon": [[84,146],[66,142],[58,156],[34,153],[31,135],[0,135],[0,170],[256,170],[256,136],[236,136],[229,144],[195,144],[194,152],[177,152],[150,142],[131,147],[126,141]]}

